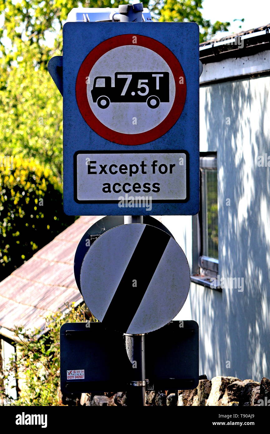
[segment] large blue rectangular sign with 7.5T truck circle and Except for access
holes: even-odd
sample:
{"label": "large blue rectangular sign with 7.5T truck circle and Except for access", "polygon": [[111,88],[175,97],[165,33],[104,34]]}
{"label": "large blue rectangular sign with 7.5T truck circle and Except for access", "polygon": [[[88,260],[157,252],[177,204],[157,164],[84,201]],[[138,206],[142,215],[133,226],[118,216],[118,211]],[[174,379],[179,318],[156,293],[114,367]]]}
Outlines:
{"label": "large blue rectangular sign with 7.5T truck circle and Except for access", "polygon": [[198,83],[195,23],[65,23],[65,213],[197,214]]}

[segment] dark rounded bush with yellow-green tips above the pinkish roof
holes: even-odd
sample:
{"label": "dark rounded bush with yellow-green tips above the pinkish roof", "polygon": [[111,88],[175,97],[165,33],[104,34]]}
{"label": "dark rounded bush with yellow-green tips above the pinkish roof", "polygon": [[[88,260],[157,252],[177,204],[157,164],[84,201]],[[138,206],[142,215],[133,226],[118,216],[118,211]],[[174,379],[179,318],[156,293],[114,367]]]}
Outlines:
{"label": "dark rounded bush with yellow-green tips above the pinkish roof", "polygon": [[0,157],[0,279],[73,223],[63,212],[62,191],[36,161]]}

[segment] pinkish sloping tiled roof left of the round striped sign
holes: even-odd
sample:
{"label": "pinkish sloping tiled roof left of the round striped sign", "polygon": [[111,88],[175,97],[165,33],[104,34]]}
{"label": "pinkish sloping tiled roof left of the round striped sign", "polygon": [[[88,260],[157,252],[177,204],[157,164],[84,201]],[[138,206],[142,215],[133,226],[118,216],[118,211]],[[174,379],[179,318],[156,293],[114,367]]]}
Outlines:
{"label": "pinkish sloping tiled roof left of the round striped sign", "polygon": [[[80,217],[0,282],[0,327],[42,328],[45,317],[67,302],[82,301],[73,261],[86,230],[102,217]],[[3,329],[0,334],[4,335]]]}

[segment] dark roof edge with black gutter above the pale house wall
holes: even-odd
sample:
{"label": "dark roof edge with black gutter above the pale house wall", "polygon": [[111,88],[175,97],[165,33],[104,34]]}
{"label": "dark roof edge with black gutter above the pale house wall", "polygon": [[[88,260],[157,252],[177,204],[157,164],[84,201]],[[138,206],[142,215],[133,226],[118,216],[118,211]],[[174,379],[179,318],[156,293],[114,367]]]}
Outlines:
{"label": "dark roof edge with black gutter above the pale house wall", "polygon": [[199,48],[202,63],[248,56],[268,49],[270,49],[270,23],[219,39],[210,39],[201,43]]}

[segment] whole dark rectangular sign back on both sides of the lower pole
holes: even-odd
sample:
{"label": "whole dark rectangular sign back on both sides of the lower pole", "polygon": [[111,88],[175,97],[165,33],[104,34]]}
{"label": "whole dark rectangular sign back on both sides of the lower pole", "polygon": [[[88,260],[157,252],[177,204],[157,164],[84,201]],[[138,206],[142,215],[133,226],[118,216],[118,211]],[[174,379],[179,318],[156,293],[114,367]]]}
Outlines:
{"label": "whole dark rectangular sign back on both sides of the lower pole", "polygon": [[[198,324],[172,321],[146,339],[146,388],[198,385]],[[64,393],[127,391],[134,375],[122,333],[101,322],[65,323],[60,329],[60,386]]]}

